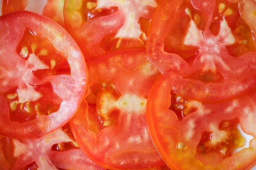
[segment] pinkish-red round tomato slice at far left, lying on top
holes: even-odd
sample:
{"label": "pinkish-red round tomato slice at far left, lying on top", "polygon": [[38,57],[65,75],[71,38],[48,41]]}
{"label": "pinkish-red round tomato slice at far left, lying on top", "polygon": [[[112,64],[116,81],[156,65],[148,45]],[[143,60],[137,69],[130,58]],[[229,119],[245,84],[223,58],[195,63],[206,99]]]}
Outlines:
{"label": "pinkish-red round tomato slice at far left, lying on top", "polygon": [[69,121],[85,93],[87,67],[58,24],[28,11],[0,17],[0,134],[36,137]]}

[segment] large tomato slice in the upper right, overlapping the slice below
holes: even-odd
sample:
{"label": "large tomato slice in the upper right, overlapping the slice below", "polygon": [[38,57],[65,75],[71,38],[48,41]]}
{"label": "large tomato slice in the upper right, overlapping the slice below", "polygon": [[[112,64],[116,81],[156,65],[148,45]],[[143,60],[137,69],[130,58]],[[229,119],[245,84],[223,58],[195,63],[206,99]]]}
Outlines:
{"label": "large tomato slice in the upper right, overlapping the slice below", "polygon": [[150,26],[149,60],[179,95],[201,101],[243,95],[256,87],[256,42],[246,22],[238,3],[164,0]]}

